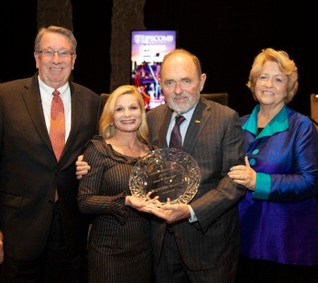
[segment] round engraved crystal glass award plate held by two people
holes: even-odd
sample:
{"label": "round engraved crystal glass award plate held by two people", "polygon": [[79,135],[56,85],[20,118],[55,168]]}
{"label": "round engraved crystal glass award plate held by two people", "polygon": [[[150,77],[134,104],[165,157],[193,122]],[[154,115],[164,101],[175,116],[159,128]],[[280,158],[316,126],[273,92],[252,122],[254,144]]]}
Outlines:
{"label": "round engraved crystal glass award plate held by two people", "polygon": [[[194,158],[179,149],[155,149],[134,166],[129,178],[131,195],[150,198],[165,204],[187,204],[196,195],[200,169]],[[150,200],[151,200],[150,199]]]}

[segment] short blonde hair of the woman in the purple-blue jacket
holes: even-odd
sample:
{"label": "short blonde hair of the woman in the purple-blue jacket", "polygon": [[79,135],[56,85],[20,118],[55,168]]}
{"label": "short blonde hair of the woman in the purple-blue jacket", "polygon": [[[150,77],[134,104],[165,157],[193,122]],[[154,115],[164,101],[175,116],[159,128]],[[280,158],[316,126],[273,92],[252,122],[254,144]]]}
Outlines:
{"label": "short blonde hair of the woman in the purple-blue jacket", "polygon": [[247,81],[246,85],[252,91],[254,100],[257,100],[255,96],[255,84],[261,74],[261,68],[268,61],[276,62],[279,70],[287,76],[287,94],[284,102],[289,103],[298,91],[298,69],[295,62],[289,58],[288,53],[284,50],[274,50],[273,48],[261,50],[254,59],[252,69],[249,72],[249,81]]}

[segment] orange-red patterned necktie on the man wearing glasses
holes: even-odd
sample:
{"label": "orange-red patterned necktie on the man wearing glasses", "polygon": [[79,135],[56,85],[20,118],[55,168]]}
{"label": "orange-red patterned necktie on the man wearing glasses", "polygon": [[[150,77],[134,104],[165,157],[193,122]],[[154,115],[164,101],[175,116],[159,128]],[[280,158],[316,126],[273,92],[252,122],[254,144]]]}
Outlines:
{"label": "orange-red patterned necktie on the man wearing glasses", "polygon": [[[65,145],[65,115],[63,100],[59,96],[59,91],[53,91],[52,105],[51,105],[51,124],[49,126],[49,138],[51,139],[54,154],[57,161],[61,157],[61,153]],[[55,202],[59,200],[57,190],[55,190]]]}

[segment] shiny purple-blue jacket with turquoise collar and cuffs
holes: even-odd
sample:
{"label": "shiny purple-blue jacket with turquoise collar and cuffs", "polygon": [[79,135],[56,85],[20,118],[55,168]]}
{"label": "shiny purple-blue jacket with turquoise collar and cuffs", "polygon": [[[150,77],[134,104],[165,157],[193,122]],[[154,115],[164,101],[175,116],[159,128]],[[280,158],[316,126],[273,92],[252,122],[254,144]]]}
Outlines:
{"label": "shiny purple-blue jacket with turquoise collar and cuffs", "polygon": [[257,135],[257,105],[241,118],[245,150],[257,172],[255,192],[239,204],[241,254],[318,265],[318,134],[305,115],[284,106]]}

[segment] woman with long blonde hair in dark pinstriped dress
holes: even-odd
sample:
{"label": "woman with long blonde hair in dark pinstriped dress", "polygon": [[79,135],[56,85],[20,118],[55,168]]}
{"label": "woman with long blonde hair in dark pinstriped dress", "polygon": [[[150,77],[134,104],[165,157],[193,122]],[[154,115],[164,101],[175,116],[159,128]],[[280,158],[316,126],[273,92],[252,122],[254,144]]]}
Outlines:
{"label": "woman with long blonde hair in dark pinstriped dress", "polygon": [[119,86],[102,111],[100,136],[90,140],[78,204],[92,214],[88,238],[88,282],[151,282],[151,229],[148,215],[129,205],[129,176],[151,151],[143,98],[135,86]]}

